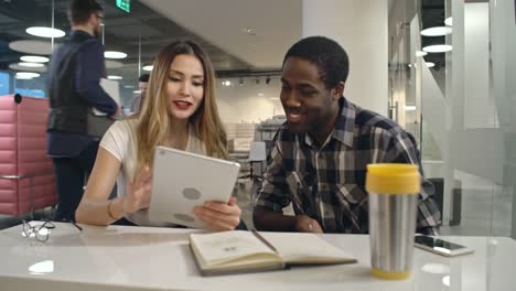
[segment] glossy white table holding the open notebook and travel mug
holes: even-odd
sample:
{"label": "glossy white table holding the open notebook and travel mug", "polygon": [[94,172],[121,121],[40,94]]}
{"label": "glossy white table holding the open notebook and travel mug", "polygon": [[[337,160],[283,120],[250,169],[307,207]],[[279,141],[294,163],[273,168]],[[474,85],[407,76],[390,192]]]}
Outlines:
{"label": "glossy white table holding the open notebook and travel mug", "polygon": [[4,229],[0,290],[516,290],[516,242],[505,237],[448,237],[475,254],[444,258],[416,249],[412,276],[385,281],[370,277],[368,236],[361,235],[323,235],[358,263],[205,278],[187,246],[191,231],[84,226],[79,233],[56,224],[43,244],[22,237],[21,226]]}

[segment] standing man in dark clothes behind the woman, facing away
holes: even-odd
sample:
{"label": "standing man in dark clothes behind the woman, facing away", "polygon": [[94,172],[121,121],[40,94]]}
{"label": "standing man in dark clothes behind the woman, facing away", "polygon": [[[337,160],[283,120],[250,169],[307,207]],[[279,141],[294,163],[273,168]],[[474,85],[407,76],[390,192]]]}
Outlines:
{"label": "standing man in dark clothes behind the woman, facing away", "polygon": [[52,55],[47,89],[50,114],[47,154],[53,159],[58,205],[55,220],[74,220],[92,172],[99,138],[87,134],[92,107],[117,118],[120,109],[100,87],[105,74],[104,46],[98,40],[104,10],[95,0],[72,0],[69,39]]}

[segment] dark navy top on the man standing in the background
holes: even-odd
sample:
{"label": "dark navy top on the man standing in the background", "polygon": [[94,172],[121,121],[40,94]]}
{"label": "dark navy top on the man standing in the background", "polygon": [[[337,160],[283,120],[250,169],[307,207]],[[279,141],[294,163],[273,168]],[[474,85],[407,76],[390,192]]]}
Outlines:
{"label": "dark navy top on the man standing in the background", "polygon": [[49,155],[74,157],[95,140],[87,136],[92,107],[108,115],[117,111],[117,104],[99,85],[105,75],[103,54],[103,44],[80,30],[72,31],[53,53],[47,80]]}

